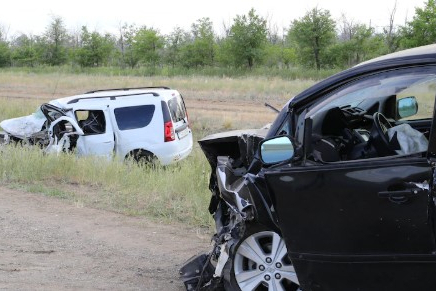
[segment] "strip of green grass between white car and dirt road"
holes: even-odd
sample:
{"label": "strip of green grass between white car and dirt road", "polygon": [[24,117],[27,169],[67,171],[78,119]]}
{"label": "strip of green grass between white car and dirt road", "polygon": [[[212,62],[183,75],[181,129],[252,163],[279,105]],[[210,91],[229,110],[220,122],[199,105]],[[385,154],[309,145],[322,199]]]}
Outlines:
{"label": "strip of green grass between white car and dirt road", "polygon": [[198,147],[176,165],[153,168],[74,154],[44,154],[37,147],[0,148],[3,185],[20,185],[77,205],[195,226],[211,222],[209,175],[209,164]]}

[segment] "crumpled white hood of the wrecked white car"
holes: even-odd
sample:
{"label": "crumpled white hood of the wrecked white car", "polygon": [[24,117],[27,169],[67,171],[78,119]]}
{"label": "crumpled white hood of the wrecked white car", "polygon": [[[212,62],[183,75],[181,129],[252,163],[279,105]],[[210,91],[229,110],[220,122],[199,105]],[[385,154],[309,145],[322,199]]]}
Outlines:
{"label": "crumpled white hood of the wrecked white car", "polygon": [[18,138],[28,138],[40,132],[47,119],[44,116],[31,114],[28,116],[6,119],[0,122],[3,130]]}

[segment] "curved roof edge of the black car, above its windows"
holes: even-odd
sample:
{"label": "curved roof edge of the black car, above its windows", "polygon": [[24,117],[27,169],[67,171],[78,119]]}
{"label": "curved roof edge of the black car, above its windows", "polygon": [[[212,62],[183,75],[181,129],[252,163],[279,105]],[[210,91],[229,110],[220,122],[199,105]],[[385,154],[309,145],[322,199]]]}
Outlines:
{"label": "curved roof edge of the black car, above its windows", "polygon": [[320,94],[325,94],[334,90],[348,79],[355,78],[356,76],[363,75],[373,70],[429,63],[436,63],[436,44],[407,49],[377,57],[328,77],[327,79],[324,79],[304,90],[289,102],[289,107],[295,107],[297,104],[299,106],[304,106],[304,104],[309,103]]}

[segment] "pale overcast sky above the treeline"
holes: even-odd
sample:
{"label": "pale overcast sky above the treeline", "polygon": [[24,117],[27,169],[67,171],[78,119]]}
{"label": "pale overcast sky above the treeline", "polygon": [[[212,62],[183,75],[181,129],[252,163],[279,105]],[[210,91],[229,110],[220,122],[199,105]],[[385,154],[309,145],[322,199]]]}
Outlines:
{"label": "pale overcast sky above the treeline", "polygon": [[8,0],[2,3],[0,27],[9,37],[40,35],[55,15],[70,31],[86,25],[91,31],[117,33],[120,23],[128,23],[168,34],[177,26],[190,30],[197,19],[209,17],[215,32],[222,34],[223,23],[230,25],[236,15],[247,14],[251,8],[282,30],[316,6],[329,10],[335,20],[345,14],[354,23],[381,27],[389,23],[395,2],[396,23],[404,24],[406,18],[412,19],[415,7],[423,8],[427,0]]}

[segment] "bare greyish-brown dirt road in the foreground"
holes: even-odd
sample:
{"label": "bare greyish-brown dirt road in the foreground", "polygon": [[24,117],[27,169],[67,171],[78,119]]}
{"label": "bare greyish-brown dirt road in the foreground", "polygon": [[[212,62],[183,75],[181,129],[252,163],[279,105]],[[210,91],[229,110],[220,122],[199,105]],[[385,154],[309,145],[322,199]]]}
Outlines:
{"label": "bare greyish-brown dirt road in the foreground", "polygon": [[0,186],[1,290],[184,290],[209,235]]}

